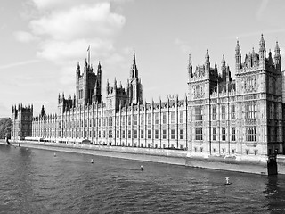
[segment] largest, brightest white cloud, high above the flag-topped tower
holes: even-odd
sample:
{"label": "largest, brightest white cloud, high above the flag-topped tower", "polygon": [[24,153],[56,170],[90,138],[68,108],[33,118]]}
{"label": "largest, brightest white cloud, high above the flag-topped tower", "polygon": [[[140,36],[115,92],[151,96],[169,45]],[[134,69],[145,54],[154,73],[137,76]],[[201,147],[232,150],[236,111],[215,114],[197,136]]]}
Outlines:
{"label": "largest, brightest white cloud, high above the flag-topped tower", "polygon": [[35,35],[72,40],[78,37],[113,37],[125,24],[125,18],[110,12],[110,3],[80,5],[51,12],[30,22]]}

